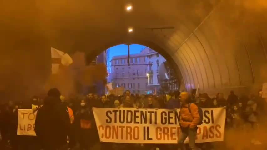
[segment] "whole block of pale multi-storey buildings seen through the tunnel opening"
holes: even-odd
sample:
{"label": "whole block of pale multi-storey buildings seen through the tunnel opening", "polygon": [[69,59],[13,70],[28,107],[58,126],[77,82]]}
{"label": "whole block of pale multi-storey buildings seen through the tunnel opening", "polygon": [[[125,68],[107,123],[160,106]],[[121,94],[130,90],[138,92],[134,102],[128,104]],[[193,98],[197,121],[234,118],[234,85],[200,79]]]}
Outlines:
{"label": "whole block of pale multi-storey buildings seen through the tunnel opening", "polygon": [[124,87],[134,94],[154,94],[160,89],[159,65],[165,59],[146,47],[138,54],[114,56],[111,62],[111,80],[114,86]]}

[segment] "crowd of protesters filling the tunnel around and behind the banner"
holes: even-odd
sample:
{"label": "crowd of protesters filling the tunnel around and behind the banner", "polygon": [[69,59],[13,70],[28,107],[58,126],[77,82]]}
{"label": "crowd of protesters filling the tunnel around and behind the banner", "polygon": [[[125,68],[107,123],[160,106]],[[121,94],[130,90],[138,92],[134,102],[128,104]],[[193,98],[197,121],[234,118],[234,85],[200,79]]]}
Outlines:
{"label": "crowd of protesters filling the tunnel around and behind the banner", "polygon": [[[56,88],[50,89],[44,98],[34,96],[29,103],[1,102],[0,104],[0,131],[2,144],[5,147],[17,149],[81,149],[88,150],[95,143],[99,143],[97,128],[94,121],[93,107],[98,108],[180,108],[179,92],[166,95],[139,95],[125,91],[124,95],[96,95],[89,93],[86,96],[64,98]],[[230,91],[227,99],[222,93],[210,98],[207,93],[192,94],[192,102],[200,108],[224,107],[226,109],[226,129],[252,128],[257,129],[261,116],[266,114],[266,104],[258,95],[237,96]],[[35,132],[37,136],[18,136],[18,109],[32,109],[37,111]],[[250,127],[248,127],[250,126]],[[67,138],[66,138],[67,137]],[[67,141],[67,142],[66,142]],[[261,144],[258,140],[254,144]],[[177,149],[174,145],[166,144],[123,144],[101,143],[101,150],[117,149],[144,149],[156,147],[160,150]],[[209,144],[197,145],[202,149],[212,149]],[[1,148],[1,147],[0,147]]]}

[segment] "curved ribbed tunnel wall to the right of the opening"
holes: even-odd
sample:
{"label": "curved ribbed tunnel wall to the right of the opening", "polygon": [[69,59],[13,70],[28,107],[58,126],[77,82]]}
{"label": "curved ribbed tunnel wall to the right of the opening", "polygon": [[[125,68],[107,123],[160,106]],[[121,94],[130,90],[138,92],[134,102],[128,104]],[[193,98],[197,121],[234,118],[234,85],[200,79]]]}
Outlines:
{"label": "curved ribbed tunnel wall to the right of the opening", "polygon": [[267,81],[267,7],[249,5],[218,3],[184,42],[186,28],[169,37],[153,32],[158,37],[153,40],[178,65],[187,90],[199,84],[207,93],[255,92]]}

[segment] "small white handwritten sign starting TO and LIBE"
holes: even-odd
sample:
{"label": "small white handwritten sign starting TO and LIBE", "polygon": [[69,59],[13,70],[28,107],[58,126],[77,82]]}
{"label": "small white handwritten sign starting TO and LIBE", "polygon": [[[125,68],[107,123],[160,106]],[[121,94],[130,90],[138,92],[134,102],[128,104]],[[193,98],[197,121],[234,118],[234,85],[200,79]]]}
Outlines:
{"label": "small white handwritten sign starting TO and LIBE", "polygon": [[18,109],[18,130],[17,135],[32,135],[34,132],[34,124],[36,113],[32,109]]}

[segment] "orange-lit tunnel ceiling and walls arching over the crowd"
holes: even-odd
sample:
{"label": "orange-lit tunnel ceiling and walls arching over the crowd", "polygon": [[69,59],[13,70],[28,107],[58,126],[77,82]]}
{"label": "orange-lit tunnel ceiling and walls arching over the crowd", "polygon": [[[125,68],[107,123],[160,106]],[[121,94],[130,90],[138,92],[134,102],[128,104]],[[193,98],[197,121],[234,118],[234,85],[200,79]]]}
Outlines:
{"label": "orange-lit tunnel ceiling and walls arching over the crowd", "polygon": [[252,93],[267,81],[264,0],[10,0],[0,10],[2,93],[41,89],[50,47],[93,58],[131,43],[171,60],[188,91]]}

